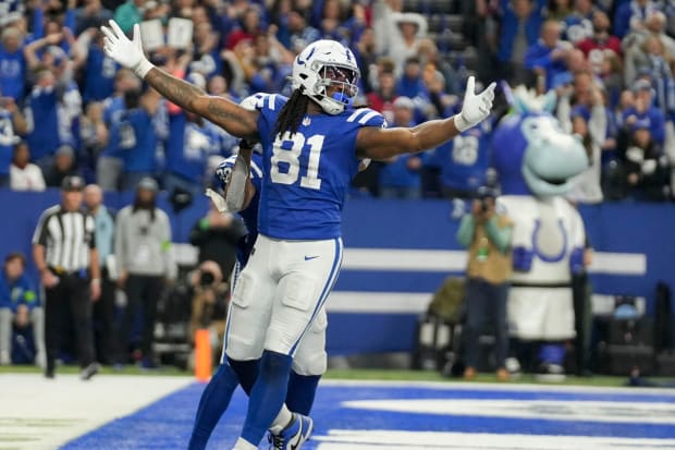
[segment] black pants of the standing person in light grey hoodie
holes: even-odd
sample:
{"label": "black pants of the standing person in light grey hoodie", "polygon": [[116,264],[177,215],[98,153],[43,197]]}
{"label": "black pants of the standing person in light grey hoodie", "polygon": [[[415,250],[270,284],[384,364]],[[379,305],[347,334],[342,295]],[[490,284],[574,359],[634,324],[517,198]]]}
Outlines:
{"label": "black pants of the standing person in light grey hoodie", "polygon": [[140,351],[144,360],[151,363],[157,303],[162,293],[163,277],[130,275],[125,288],[126,306],[118,329],[118,363],[125,364],[128,360],[128,340],[138,313],[143,314]]}

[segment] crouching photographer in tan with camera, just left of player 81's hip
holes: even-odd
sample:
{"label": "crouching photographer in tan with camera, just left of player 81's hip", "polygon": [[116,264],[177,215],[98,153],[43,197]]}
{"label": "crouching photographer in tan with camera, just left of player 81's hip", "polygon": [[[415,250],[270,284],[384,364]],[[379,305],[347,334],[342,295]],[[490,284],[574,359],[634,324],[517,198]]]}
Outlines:
{"label": "crouching photographer in tan with camera, just left of player 81's hip", "polygon": [[217,336],[225,331],[225,316],[228,312],[228,282],[223,280],[223,272],[218,263],[206,260],[192,272],[189,284],[193,289],[192,317],[189,320],[189,336],[194,337],[199,328],[214,326]]}

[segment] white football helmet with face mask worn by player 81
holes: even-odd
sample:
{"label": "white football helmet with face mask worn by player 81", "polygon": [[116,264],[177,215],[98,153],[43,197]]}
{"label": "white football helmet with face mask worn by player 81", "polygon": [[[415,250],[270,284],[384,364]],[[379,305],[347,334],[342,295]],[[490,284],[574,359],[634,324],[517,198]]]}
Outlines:
{"label": "white football helmet with face mask worn by player 81", "polygon": [[293,89],[302,89],[323,111],[334,115],[352,105],[359,76],[352,50],[335,40],[321,39],[295,57],[291,78]]}

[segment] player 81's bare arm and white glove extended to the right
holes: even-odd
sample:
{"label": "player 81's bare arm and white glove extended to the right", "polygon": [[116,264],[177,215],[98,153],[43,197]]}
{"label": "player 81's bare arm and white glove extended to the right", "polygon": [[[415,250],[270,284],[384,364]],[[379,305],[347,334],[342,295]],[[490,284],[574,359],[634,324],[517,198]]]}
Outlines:
{"label": "player 81's bare arm and white glove extended to the right", "polygon": [[469,77],[462,112],[443,120],[431,120],[413,127],[379,129],[365,126],[356,137],[356,151],[361,158],[386,159],[401,154],[418,153],[452,139],[484,120],[492,109],[494,83],[476,95],[475,80]]}

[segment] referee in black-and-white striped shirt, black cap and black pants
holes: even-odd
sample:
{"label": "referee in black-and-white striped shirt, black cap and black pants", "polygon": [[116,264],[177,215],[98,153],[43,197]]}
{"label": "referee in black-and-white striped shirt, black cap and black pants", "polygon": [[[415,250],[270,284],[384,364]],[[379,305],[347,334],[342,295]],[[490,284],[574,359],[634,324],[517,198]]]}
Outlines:
{"label": "referee in black-and-white striped shirt, black cap and black pants", "polygon": [[81,177],[64,178],[61,204],[42,212],[33,235],[33,258],[46,297],[47,378],[54,376],[62,324],[69,316],[75,328],[81,378],[91,378],[99,368],[94,360],[91,301],[100,295],[100,270],[94,219],[81,209],[84,186]]}

